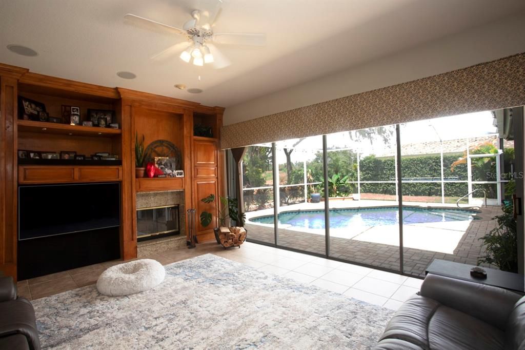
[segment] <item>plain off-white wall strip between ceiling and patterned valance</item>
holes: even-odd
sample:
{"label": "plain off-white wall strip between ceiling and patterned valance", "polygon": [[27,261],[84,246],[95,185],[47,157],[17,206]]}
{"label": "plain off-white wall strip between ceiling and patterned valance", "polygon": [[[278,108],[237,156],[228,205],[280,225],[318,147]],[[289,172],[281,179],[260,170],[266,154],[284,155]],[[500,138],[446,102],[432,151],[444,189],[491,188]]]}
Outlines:
{"label": "plain off-white wall strip between ceiling and patterned valance", "polygon": [[226,108],[224,125],[525,52],[525,13]]}

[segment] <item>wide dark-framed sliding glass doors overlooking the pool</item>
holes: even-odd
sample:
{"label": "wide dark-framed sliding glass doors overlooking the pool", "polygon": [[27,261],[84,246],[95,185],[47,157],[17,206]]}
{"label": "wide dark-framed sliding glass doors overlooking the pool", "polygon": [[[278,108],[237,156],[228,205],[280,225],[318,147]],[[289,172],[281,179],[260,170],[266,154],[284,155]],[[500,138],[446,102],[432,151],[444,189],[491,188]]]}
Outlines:
{"label": "wide dark-framed sliding glass doors overlooking the pool", "polygon": [[250,146],[249,240],[421,277],[434,259],[487,263],[493,217],[523,186],[509,110]]}

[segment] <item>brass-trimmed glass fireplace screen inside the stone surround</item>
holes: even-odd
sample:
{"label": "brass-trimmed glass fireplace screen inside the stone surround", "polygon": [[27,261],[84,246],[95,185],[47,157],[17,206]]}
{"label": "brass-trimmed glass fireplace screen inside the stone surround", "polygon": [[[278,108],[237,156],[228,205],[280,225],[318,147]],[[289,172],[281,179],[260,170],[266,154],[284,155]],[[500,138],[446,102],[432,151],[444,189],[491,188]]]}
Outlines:
{"label": "brass-trimmed glass fireplace screen inside the stone surround", "polygon": [[137,240],[180,234],[178,205],[137,209]]}

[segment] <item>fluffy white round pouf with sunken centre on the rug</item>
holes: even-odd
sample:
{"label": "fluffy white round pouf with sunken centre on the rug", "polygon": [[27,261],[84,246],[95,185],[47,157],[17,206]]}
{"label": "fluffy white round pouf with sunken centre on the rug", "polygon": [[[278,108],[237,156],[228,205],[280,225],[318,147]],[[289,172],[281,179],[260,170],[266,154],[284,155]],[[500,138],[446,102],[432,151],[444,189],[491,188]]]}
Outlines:
{"label": "fluffy white round pouf with sunken centre on the rug", "polygon": [[147,291],[163,280],[166,271],[156,260],[141,259],[115,266],[102,272],[97,289],[104,295],[128,295]]}

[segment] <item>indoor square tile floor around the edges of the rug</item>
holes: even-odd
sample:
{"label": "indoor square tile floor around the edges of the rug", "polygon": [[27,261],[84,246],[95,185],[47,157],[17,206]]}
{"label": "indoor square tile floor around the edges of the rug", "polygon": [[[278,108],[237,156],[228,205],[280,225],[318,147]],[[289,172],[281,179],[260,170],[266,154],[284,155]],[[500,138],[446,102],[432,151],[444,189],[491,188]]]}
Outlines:
{"label": "indoor square tile floor around the edges of the rug", "polygon": [[[166,265],[206,253],[393,310],[397,310],[406,298],[419,291],[423,282],[412,277],[249,242],[240,249],[227,250],[215,242],[207,242],[197,245],[196,249],[166,251],[147,258]],[[104,269],[120,262],[109,261],[20,281],[18,294],[37,299],[93,284]]]}

